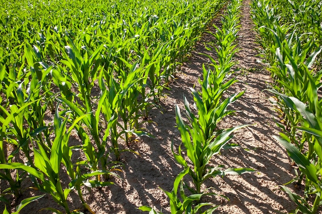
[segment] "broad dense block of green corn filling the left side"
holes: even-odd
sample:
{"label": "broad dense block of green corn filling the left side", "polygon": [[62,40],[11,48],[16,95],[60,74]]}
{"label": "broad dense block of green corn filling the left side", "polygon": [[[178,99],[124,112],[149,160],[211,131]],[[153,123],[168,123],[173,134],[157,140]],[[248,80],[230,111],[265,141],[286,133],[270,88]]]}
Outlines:
{"label": "broad dense block of green corn filling the left side", "polygon": [[151,136],[149,108],[224,1],[0,2],[0,199],[19,199],[25,180],[64,211],[48,210],[79,212],[77,191],[94,213],[83,187],[112,185],[121,153]]}

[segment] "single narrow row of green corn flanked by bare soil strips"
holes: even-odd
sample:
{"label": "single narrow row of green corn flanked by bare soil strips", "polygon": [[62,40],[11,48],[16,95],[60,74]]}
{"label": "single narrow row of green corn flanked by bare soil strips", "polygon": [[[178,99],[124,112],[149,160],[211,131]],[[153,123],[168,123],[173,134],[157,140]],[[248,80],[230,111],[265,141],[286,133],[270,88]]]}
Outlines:
{"label": "single narrow row of green corn flanked by bare soil strips", "polygon": [[[181,110],[176,106],[176,123],[181,133],[182,145],[177,151],[172,144],[172,152],[177,163],[183,166],[183,171],[175,178],[173,189],[165,191],[170,199],[171,213],[212,213],[218,205],[211,202],[201,202],[204,196],[214,196],[211,188],[202,189],[202,184],[211,177],[225,176],[226,174],[242,174],[252,172],[250,168],[225,168],[223,165],[214,166],[209,164],[211,158],[218,155],[222,149],[237,146],[228,144],[232,133],[246,125],[236,126],[229,129],[219,129],[218,123],[222,119],[234,113],[228,106],[235,102],[244,91],[227,95],[227,89],[237,82],[233,67],[236,66],[234,54],[236,37],[240,29],[240,7],[242,2],[232,0],[227,5],[227,10],[222,16],[222,28],[216,25],[216,33],[211,33],[216,40],[207,44],[218,60],[210,59],[209,68],[203,66],[203,79],[200,80],[201,91],[191,88],[195,110],[184,97],[186,117],[189,123],[184,122]],[[225,95],[226,96],[225,96]],[[186,177],[189,177],[187,179]],[[192,180],[192,183],[188,181]],[[187,194],[187,192],[189,192]],[[140,207],[141,210],[150,213],[162,213],[151,207]]]}

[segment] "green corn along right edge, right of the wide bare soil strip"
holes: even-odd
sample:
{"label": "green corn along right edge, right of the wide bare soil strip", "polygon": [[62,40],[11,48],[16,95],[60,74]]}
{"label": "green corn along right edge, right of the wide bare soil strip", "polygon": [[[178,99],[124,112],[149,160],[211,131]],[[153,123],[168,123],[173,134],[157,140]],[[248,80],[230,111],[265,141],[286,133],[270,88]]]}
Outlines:
{"label": "green corn along right edge, right of the wide bare soil strip", "polygon": [[275,80],[269,91],[281,115],[276,139],[298,167],[288,184],[305,184],[301,194],[282,186],[297,205],[292,213],[317,213],[322,205],[321,7],[314,0],[252,4],[262,56]]}

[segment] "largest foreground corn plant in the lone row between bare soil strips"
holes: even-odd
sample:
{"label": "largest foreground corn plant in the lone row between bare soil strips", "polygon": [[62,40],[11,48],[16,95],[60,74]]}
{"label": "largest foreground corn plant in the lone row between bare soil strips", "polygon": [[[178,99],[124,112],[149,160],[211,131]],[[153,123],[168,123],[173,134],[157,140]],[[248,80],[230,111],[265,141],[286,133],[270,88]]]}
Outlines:
{"label": "largest foreground corn plant in the lone row between bare soil strips", "polygon": [[201,105],[203,103],[198,93],[194,92],[193,95],[196,97],[196,106],[198,109],[199,118],[196,118],[196,116],[192,113],[188,101],[186,98],[184,98],[185,109],[191,126],[185,124],[181,116],[180,109],[178,106],[176,106],[176,123],[181,133],[182,144],[186,148],[187,156],[191,161],[193,168],[190,168],[188,163],[185,161],[181,146],[178,148],[178,153],[176,154],[173,151],[173,154],[175,160],[179,164],[185,168],[189,168],[189,175],[192,177],[195,186],[193,192],[199,194],[202,193],[202,183],[210,177],[217,175],[224,176],[225,174],[229,173],[242,174],[254,170],[250,168],[228,168],[226,170],[221,170],[222,166],[211,167],[208,165],[210,159],[214,155],[219,154],[221,149],[225,148],[226,144],[231,139],[231,134],[237,129],[243,128],[247,125],[241,125],[227,130],[208,129],[207,127],[214,126],[214,123],[217,122],[216,117],[217,115],[222,114],[220,113],[222,112],[222,108],[210,109],[209,112],[207,112],[204,106]]}

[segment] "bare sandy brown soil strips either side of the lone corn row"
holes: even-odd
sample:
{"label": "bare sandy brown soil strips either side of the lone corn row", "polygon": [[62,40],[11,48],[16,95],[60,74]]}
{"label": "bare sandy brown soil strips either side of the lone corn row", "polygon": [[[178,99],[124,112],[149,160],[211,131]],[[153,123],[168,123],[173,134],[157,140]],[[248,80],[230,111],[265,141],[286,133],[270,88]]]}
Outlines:
{"label": "bare sandy brown soil strips either side of the lone corn row", "polygon": [[[254,173],[241,176],[225,176],[212,178],[204,184],[204,188],[212,187],[214,192],[223,194],[229,201],[221,197],[208,200],[221,206],[214,213],[288,213],[295,208],[279,185],[293,178],[293,168],[285,150],[273,138],[278,135],[274,118],[277,115],[269,102],[270,94],[265,91],[270,86],[271,76],[259,63],[256,34],[250,16],[250,0],[244,0],[241,11],[241,29],[238,36],[240,51],[236,55],[238,61],[235,73],[238,83],[230,92],[245,90],[243,96],[231,108],[238,110],[236,115],[221,122],[221,128],[229,128],[241,124],[252,124],[235,133],[232,141],[240,148],[224,150],[221,155],[211,160],[211,164],[222,164],[225,167],[249,167]],[[211,29],[209,29],[211,30]],[[192,103],[189,88],[199,89],[198,79],[202,77],[202,64],[208,62],[207,57],[198,53],[208,53],[203,43],[211,40],[205,33],[196,50],[177,74],[171,84],[171,90],[160,102],[160,107],[152,109],[150,117],[155,123],[146,128],[156,138],[142,138],[133,145],[133,153],[122,153],[124,171],[121,179],[113,179],[115,185],[99,190],[85,190],[84,197],[95,213],[143,213],[137,208],[141,205],[155,207],[169,212],[169,200],[162,191],[170,191],[173,181],[182,170],[176,164],[171,153],[171,142],[180,145],[180,133],[175,127],[175,105],[183,109],[183,94]],[[289,185],[293,188],[292,185]],[[293,188],[294,189],[294,188]],[[21,213],[36,213],[42,207],[57,207],[50,196],[29,204]],[[81,204],[75,193],[71,194],[70,205],[75,209]],[[28,209],[29,208],[29,209]],[[51,213],[42,210],[40,213]]]}

